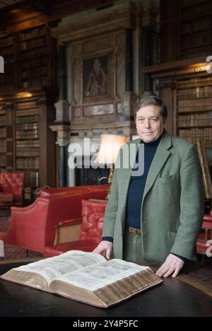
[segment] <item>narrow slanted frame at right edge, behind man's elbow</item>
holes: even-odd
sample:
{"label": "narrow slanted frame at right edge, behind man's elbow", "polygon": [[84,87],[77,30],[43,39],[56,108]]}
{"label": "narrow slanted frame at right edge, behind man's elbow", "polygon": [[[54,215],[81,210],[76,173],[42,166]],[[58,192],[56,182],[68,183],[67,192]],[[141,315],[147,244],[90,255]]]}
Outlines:
{"label": "narrow slanted frame at right edge, behind man's elbow", "polygon": [[[199,154],[199,161],[202,170],[204,196],[206,199],[212,199],[212,141],[196,141],[197,151]],[[208,156],[207,152],[211,156]]]}

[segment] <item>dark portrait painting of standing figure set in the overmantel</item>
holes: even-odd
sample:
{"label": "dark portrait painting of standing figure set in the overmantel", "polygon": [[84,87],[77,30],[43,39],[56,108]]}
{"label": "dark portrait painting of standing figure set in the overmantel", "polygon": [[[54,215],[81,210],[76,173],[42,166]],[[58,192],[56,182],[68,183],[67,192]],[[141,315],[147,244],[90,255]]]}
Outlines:
{"label": "dark portrait painting of standing figure set in the overmantel", "polygon": [[83,97],[94,98],[108,93],[107,55],[83,60]]}

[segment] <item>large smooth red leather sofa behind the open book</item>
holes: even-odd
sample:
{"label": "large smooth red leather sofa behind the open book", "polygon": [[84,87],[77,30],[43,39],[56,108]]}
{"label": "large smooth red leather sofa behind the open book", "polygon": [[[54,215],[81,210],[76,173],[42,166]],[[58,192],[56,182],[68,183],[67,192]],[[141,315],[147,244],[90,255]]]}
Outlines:
{"label": "large smooth red leather sofa behind the open book", "polygon": [[108,185],[40,190],[29,207],[11,207],[10,226],[0,233],[0,240],[44,253],[54,244],[57,224],[81,218],[82,199],[105,199],[107,190]]}

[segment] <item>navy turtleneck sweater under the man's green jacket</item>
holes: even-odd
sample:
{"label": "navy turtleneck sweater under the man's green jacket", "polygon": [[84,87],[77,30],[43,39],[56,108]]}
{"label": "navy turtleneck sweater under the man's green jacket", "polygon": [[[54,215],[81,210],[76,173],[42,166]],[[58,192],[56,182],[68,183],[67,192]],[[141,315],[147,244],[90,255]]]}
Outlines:
{"label": "navy turtleneck sweater under the man's green jacket", "polygon": [[[165,131],[163,131],[163,134],[164,132]],[[157,140],[151,141],[149,143],[141,140],[140,144],[144,144],[144,171],[143,175],[141,176],[131,175],[131,181],[129,183],[128,196],[126,200],[126,226],[131,226],[132,228],[141,228],[141,203],[146,185],[146,179],[163,134],[161,134]],[[138,162],[139,153],[137,153],[136,156],[136,164],[138,164]]]}

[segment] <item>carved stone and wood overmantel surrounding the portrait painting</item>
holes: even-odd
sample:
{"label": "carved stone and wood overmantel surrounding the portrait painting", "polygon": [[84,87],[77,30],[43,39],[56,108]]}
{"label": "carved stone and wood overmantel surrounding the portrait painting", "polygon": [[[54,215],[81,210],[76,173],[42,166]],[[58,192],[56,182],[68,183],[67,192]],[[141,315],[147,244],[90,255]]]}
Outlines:
{"label": "carved stone and wood overmantel surrounding the portrait painting", "polygon": [[65,17],[52,28],[61,50],[61,82],[66,47],[67,91],[64,82],[60,84],[63,98],[55,105],[57,118],[51,127],[59,146],[81,144],[88,137],[100,142],[101,134],[124,134],[127,139],[136,134],[133,116],[136,95],[141,93],[141,86],[135,86],[141,82],[141,30],[151,21],[148,10],[143,16],[142,6],[139,0],[114,1],[103,10]]}

